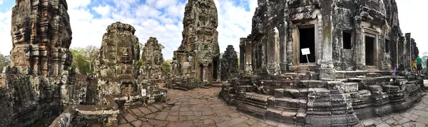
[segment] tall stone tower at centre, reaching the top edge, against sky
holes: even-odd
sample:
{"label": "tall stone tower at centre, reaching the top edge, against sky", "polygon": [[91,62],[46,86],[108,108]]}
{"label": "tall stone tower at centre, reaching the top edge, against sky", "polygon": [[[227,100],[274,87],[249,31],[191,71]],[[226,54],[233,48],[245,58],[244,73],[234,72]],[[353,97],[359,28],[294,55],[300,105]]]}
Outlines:
{"label": "tall stone tower at centre, reaching the top edge, against sky", "polygon": [[172,68],[178,77],[215,81],[218,74],[218,17],[213,0],[189,0],[183,19],[183,41],[174,51]]}

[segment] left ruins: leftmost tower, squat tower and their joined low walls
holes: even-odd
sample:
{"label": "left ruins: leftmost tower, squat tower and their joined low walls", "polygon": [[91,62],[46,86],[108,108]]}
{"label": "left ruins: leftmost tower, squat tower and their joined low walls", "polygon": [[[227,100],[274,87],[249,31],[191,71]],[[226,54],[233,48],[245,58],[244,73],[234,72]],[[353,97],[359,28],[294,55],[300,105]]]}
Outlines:
{"label": "left ruins: leftmost tower, squat tower and their joined low walls", "polygon": [[122,108],[166,100],[165,90],[138,78],[140,49],[129,24],[108,26],[96,73],[77,74],[67,8],[65,0],[16,1],[11,66],[0,75],[0,126],[116,126]]}

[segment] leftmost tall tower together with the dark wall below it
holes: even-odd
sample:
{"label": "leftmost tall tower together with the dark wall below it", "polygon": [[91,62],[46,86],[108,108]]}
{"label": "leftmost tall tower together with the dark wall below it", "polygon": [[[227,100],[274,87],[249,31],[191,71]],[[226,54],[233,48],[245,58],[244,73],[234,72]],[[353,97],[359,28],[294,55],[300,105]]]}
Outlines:
{"label": "leftmost tall tower together with the dark wall below it", "polygon": [[0,76],[1,126],[30,126],[82,101],[80,95],[61,96],[60,90],[73,89],[78,77],[70,68],[67,9],[65,0],[16,1],[12,8],[11,66]]}

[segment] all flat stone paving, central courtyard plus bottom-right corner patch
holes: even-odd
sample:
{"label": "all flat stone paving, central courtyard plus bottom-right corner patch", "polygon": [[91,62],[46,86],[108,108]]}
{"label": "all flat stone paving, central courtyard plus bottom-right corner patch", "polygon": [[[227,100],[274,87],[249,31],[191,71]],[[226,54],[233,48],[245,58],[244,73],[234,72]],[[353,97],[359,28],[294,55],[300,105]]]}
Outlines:
{"label": "all flat stone paving, central courtyard plus bottom-right corner patch", "polygon": [[[195,88],[193,91],[168,89],[167,103],[123,110],[118,126],[293,126],[264,121],[240,113],[218,98],[221,88]],[[360,122],[359,126],[428,125],[428,96],[404,113],[392,113],[382,118]]]}

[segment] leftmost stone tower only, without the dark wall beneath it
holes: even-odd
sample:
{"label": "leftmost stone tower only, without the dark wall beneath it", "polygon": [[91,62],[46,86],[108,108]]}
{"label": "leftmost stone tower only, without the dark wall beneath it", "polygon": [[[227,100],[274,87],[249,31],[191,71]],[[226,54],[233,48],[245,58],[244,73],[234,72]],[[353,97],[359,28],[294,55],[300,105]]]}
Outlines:
{"label": "leftmost stone tower only, without the dark wall beneath it", "polygon": [[56,77],[71,66],[71,26],[65,0],[16,1],[12,8],[11,66]]}

